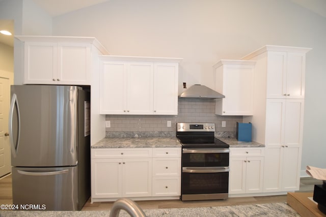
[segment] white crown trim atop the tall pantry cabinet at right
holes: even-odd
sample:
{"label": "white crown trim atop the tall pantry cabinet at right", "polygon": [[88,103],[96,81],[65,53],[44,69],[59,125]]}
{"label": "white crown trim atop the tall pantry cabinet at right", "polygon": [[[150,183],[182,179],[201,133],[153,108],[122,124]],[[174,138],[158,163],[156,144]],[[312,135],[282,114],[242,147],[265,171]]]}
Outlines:
{"label": "white crown trim atop the tall pantry cabinet at right", "polygon": [[243,56],[241,59],[251,59],[254,56],[258,56],[259,54],[266,51],[281,51],[281,52],[295,52],[295,53],[307,53],[312,50],[312,48],[307,47],[289,47],[289,46],[276,46],[276,45],[265,45],[262,48],[259,48],[250,54]]}

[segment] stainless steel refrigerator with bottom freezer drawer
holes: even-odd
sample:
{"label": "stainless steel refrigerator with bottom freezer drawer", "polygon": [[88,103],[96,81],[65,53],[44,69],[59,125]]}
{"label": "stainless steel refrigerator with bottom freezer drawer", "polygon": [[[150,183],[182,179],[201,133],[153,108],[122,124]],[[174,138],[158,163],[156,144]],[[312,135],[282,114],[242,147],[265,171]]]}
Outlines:
{"label": "stainless steel refrigerator with bottom freezer drawer", "polygon": [[90,197],[90,93],[64,85],[12,85],[13,204],[80,210]]}

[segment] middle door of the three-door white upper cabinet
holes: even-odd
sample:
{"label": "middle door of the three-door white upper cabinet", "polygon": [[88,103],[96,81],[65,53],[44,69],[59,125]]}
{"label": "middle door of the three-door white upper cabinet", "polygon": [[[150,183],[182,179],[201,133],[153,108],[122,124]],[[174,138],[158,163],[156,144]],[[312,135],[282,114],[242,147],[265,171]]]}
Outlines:
{"label": "middle door of the three-door white upper cabinet", "polygon": [[153,63],[127,64],[127,113],[153,114]]}

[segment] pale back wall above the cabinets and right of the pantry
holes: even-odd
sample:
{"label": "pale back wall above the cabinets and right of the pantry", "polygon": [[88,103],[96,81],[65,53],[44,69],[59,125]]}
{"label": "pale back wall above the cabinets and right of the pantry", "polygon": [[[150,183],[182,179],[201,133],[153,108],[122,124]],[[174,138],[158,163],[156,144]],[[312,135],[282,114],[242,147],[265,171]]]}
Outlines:
{"label": "pale back wall above the cabinets and right of the pantry", "polygon": [[289,0],[111,0],[53,19],[53,35],[96,37],[114,55],[182,57],[182,82],[213,87],[212,65],[266,44],[307,54],[302,169],[326,168],[326,18]]}

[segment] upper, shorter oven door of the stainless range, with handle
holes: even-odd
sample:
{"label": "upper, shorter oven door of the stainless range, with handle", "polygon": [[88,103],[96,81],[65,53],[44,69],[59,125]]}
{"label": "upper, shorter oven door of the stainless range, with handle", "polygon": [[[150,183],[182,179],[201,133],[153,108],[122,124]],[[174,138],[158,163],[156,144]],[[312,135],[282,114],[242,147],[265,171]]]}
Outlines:
{"label": "upper, shorter oven door of the stainless range, with handle", "polygon": [[182,167],[228,167],[229,148],[182,148]]}

